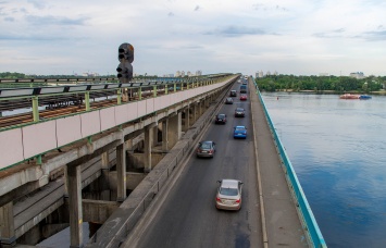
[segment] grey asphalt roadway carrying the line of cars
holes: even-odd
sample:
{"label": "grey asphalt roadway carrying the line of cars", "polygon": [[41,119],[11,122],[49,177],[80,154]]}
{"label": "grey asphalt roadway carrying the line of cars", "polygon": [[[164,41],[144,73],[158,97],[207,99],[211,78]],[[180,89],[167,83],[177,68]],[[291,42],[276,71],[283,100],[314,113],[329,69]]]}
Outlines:
{"label": "grey asphalt roadway carrying the line of cars", "polygon": [[[236,107],[246,109],[246,117],[234,116]],[[136,247],[263,247],[249,99],[240,102],[238,94],[234,104],[224,104],[219,113],[227,115],[227,123],[214,124],[213,117],[202,136],[216,142],[214,158],[191,156]],[[233,138],[236,125],[248,128],[247,139]],[[216,210],[216,181],[222,178],[244,182],[239,211]]]}

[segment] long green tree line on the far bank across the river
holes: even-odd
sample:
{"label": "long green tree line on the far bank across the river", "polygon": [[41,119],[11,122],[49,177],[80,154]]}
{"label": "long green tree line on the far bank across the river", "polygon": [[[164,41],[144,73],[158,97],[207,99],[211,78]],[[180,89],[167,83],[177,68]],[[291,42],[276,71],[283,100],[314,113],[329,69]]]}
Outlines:
{"label": "long green tree line on the far bank across the river", "polygon": [[259,89],[265,91],[278,90],[312,90],[334,92],[371,92],[378,91],[386,83],[386,76],[369,76],[357,79],[349,76],[295,76],[269,75],[256,79]]}

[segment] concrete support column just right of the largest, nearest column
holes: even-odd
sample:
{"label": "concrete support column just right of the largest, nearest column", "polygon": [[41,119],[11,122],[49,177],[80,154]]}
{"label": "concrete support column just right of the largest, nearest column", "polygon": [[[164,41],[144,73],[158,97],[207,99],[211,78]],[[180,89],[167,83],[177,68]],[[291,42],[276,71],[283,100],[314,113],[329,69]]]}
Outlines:
{"label": "concrete support column just right of the largest, nearest column", "polygon": [[125,142],[116,147],[116,201],[126,199],[126,146]]}

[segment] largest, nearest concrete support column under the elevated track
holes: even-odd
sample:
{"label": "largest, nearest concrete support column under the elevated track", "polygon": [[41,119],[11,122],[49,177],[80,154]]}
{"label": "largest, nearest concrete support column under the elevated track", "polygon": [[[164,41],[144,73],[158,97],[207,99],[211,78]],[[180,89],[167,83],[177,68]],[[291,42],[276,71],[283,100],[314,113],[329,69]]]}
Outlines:
{"label": "largest, nearest concrete support column under the elevated track", "polygon": [[70,247],[83,247],[82,171],[80,165],[66,165],[70,210]]}

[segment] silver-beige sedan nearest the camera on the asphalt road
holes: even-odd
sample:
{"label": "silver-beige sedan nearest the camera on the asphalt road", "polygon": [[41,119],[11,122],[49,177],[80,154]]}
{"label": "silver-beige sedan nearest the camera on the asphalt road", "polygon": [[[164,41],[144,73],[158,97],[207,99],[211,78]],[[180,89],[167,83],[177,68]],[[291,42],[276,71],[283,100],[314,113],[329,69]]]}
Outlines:
{"label": "silver-beige sedan nearest the camera on the asphalt road", "polygon": [[240,210],[242,182],[237,179],[222,179],[217,195],[215,196],[215,207],[225,210]]}

